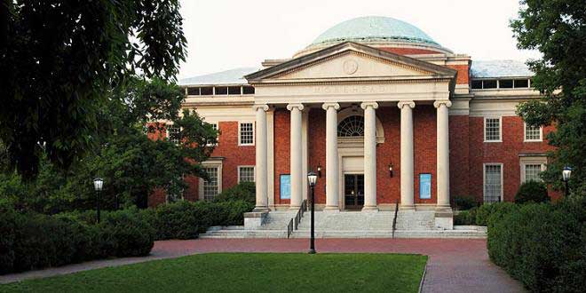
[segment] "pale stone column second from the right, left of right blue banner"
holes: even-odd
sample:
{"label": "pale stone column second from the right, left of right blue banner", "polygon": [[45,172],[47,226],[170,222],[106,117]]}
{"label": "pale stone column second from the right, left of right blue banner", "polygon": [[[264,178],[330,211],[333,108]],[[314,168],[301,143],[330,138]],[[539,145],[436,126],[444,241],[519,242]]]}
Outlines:
{"label": "pale stone column second from the right, left of right blue banner", "polygon": [[400,208],[414,210],[413,204],[413,101],[399,102],[400,108]]}

